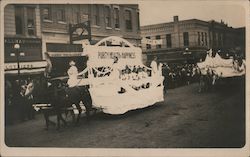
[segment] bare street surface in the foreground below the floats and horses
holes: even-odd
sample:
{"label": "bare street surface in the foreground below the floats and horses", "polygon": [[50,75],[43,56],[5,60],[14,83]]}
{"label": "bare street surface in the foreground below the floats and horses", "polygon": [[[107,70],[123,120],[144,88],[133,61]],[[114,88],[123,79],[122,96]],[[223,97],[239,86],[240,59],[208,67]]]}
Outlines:
{"label": "bare street surface in the foreground below the floats and horses", "polygon": [[[244,84],[221,84],[198,93],[198,84],[168,90],[165,102],[112,116],[93,115],[90,123],[44,130],[41,114],[35,120],[9,125],[9,147],[76,148],[221,148],[245,144]],[[53,119],[53,117],[52,117]]]}

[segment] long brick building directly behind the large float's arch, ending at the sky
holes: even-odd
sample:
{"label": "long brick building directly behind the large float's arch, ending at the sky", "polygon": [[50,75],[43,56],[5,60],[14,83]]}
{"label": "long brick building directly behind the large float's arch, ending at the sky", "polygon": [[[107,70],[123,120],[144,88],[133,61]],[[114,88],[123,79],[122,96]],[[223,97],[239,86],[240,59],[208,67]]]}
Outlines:
{"label": "long brick building directly behind the large float's arch, ending at the sky", "polygon": [[[54,71],[64,71],[73,59],[82,70],[83,57],[62,51],[82,51],[82,41],[70,45],[69,25],[90,21],[91,44],[107,36],[120,36],[134,45],[140,44],[138,5],[81,4],[81,5],[40,5],[43,52],[58,52],[52,58]],[[60,55],[62,54],[62,55]],[[65,57],[68,56],[68,57]]]}

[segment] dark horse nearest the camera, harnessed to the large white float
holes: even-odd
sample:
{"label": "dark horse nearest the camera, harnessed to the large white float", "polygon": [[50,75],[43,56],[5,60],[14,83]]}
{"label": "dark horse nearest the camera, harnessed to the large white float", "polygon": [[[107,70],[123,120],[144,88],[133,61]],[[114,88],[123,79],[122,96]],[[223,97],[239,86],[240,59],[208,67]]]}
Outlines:
{"label": "dark horse nearest the camera, harnessed to the large white float", "polygon": [[85,108],[86,108],[86,116],[87,120],[89,119],[89,113],[92,109],[92,100],[90,93],[88,91],[87,86],[81,87],[67,87],[65,83],[62,81],[53,81],[51,86],[48,87],[48,101],[51,104],[50,110],[44,110],[44,118],[46,121],[46,129],[48,129],[49,124],[53,124],[52,121],[49,120],[49,116],[51,114],[55,114],[57,116],[57,129],[60,129],[60,122],[62,121],[64,125],[67,125],[67,122],[62,117],[62,114],[68,114],[68,108],[72,108],[72,104],[75,104],[78,110],[78,116],[75,120],[75,115],[71,110],[71,114],[75,121],[75,124],[78,124],[82,109],[80,107],[80,102],[82,101]]}

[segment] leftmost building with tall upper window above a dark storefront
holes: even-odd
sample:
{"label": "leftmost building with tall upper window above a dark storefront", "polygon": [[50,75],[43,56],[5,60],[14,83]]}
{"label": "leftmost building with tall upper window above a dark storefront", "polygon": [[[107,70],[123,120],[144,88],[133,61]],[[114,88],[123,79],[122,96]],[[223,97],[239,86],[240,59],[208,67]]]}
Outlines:
{"label": "leftmost building with tall upper window above a dark storefront", "polygon": [[[23,52],[20,62],[42,60],[42,35],[40,10],[38,5],[7,5],[4,9],[4,59],[5,63],[15,63],[14,44],[20,44]],[[30,63],[29,63],[30,64]],[[23,66],[27,66],[23,65]],[[29,65],[30,66],[30,65]],[[6,70],[15,69],[16,65],[6,64]]]}

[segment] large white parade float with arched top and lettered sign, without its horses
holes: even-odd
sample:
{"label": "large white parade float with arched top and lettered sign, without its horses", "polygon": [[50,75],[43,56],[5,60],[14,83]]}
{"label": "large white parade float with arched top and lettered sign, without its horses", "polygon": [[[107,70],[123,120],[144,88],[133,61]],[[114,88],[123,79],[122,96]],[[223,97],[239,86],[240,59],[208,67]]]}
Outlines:
{"label": "large white parade float with arched top and lettered sign, without its horses", "polygon": [[161,66],[142,63],[142,50],[120,37],[84,45],[87,67],[75,86],[89,85],[93,106],[108,114],[123,114],[164,100]]}

